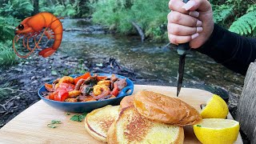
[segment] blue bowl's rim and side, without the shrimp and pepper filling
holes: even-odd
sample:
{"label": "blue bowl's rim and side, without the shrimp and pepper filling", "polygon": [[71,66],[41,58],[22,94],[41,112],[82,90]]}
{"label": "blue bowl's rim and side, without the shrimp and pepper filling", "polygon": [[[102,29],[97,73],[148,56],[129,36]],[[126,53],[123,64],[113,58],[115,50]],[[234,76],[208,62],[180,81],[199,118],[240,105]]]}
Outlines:
{"label": "blue bowl's rim and side, without the shrimp and pepper filling", "polygon": [[[93,74],[92,74],[93,75]],[[111,74],[98,74],[99,76],[107,76],[110,77]],[[76,77],[79,75],[70,75],[71,77]],[[126,78],[121,75],[115,74],[117,78]],[[126,78],[127,86],[123,88],[117,98],[111,98],[106,99],[102,101],[94,101],[94,102],[58,102],[54,100],[50,100],[47,98],[44,98],[42,96],[42,92],[46,91],[45,86],[42,86],[38,90],[38,96],[42,98],[44,102],[46,102],[48,105],[53,106],[54,108],[58,110],[64,110],[66,112],[74,112],[74,113],[82,113],[82,112],[90,112],[91,110],[98,109],[100,107],[106,106],[106,105],[119,105],[122,98],[124,98],[127,95],[133,94],[134,92],[134,83],[130,81],[129,78]],[[52,83],[52,82],[50,82]]]}

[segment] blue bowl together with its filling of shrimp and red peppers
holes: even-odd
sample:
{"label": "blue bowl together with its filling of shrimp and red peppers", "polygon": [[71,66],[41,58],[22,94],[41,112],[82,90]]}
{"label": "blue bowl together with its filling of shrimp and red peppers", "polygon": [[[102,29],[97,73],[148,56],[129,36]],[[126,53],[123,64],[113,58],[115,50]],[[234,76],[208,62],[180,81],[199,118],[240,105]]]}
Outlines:
{"label": "blue bowl together with its filling of shrimp and red peppers", "polygon": [[106,105],[119,105],[134,92],[134,83],[118,74],[74,74],[45,83],[38,96],[46,104],[66,112],[90,112]]}

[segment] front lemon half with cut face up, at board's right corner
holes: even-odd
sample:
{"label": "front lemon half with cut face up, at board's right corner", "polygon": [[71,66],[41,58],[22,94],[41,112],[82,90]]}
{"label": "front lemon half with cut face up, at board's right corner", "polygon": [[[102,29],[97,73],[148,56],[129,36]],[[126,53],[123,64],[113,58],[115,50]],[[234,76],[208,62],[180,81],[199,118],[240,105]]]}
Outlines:
{"label": "front lemon half with cut face up, at board's right corner", "polygon": [[206,118],[194,125],[194,134],[200,142],[207,144],[231,144],[239,133],[239,122],[231,119]]}

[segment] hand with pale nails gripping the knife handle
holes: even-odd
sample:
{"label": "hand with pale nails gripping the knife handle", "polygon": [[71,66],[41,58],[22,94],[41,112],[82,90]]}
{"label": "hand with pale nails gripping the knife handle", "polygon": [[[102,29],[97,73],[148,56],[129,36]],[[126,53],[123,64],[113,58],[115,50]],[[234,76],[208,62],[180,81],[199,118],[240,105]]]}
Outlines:
{"label": "hand with pale nails gripping the knife handle", "polygon": [[202,46],[214,30],[213,11],[207,0],[170,0],[168,38],[171,43],[190,42],[191,48]]}

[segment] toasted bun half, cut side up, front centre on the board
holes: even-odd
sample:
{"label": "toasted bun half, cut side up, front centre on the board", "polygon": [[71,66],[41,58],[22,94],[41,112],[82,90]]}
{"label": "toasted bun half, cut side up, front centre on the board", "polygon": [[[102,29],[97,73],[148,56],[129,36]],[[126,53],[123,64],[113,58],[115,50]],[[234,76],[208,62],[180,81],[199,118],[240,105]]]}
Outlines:
{"label": "toasted bun half, cut side up, front centre on the board", "polygon": [[143,117],[134,106],[123,108],[107,132],[107,142],[116,143],[183,143],[180,126],[153,122]]}

